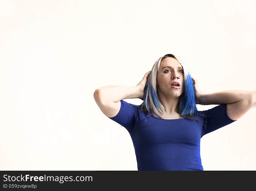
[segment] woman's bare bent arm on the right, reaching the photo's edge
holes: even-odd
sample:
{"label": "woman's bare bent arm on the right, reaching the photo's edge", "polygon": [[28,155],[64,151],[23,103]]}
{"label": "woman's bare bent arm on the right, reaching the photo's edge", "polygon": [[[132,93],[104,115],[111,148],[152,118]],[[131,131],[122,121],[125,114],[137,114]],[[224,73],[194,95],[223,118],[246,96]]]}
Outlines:
{"label": "woman's bare bent arm on the right, reaching the photo's edge", "polygon": [[229,90],[209,94],[200,94],[201,105],[227,104],[227,115],[232,120],[242,117],[256,103],[256,93],[253,91]]}

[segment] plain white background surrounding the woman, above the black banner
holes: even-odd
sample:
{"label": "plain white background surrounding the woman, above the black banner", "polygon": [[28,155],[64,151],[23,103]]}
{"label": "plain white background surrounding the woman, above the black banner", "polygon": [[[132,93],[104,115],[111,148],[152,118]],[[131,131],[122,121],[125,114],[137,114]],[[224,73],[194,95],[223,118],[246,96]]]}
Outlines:
{"label": "plain white background surrounding the woman, above the black banner", "polygon": [[[254,0],[0,1],[0,169],[137,170],[128,131],[94,91],[137,85],[168,53],[205,93],[255,90],[255,10]],[[255,109],[201,139],[204,170],[256,170]]]}

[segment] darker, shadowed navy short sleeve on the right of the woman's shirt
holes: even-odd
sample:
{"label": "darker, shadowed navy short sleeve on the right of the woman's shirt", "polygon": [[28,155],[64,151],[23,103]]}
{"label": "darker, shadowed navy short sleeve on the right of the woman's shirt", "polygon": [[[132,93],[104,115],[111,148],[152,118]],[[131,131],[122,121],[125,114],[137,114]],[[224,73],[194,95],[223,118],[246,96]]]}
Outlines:
{"label": "darker, shadowed navy short sleeve on the right of the woman's shirt", "polygon": [[205,115],[205,127],[202,130],[202,136],[212,131],[215,131],[221,127],[224,127],[236,120],[230,119],[227,115],[227,104],[221,104],[209,110],[202,111]]}

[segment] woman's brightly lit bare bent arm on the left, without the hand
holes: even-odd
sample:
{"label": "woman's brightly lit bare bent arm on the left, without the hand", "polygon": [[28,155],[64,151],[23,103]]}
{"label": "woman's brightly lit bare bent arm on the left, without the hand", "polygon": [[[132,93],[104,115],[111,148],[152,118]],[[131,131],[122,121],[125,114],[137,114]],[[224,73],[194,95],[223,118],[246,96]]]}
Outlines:
{"label": "woman's brightly lit bare bent arm on the left, without the hand", "polygon": [[142,98],[143,92],[139,86],[108,85],[95,90],[94,99],[100,110],[107,117],[115,117],[120,108],[122,99]]}

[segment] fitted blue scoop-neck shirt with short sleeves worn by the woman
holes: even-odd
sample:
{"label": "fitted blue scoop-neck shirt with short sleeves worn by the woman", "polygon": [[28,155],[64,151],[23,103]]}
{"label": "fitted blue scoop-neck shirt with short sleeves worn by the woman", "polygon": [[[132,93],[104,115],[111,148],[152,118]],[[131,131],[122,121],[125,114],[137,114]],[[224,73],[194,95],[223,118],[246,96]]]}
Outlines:
{"label": "fitted blue scoop-neck shirt with short sleeves worn by the woman", "polygon": [[[160,119],[140,111],[121,100],[115,117],[109,117],[124,126],[135,149],[138,170],[203,170],[200,157],[200,139],[236,120],[227,115],[227,104],[198,111],[202,123],[187,118]],[[139,112],[140,111],[140,112]],[[146,118],[145,118],[146,117]]]}

